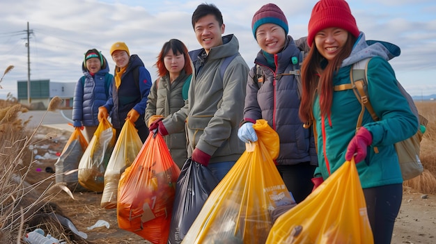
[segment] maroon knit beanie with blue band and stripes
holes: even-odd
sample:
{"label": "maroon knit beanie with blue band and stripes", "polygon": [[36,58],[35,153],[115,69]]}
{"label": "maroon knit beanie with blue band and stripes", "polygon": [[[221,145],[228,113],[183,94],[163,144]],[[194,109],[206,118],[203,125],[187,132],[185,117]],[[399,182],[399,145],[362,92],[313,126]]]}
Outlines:
{"label": "maroon knit beanie with blue band and stripes", "polygon": [[288,20],[286,20],[283,11],[274,3],[267,3],[254,13],[253,20],[251,21],[251,30],[253,31],[254,39],[256,39],[256,30],[258,27],[267,23],[277,24],[285,30],[285,35],[288,35]]}

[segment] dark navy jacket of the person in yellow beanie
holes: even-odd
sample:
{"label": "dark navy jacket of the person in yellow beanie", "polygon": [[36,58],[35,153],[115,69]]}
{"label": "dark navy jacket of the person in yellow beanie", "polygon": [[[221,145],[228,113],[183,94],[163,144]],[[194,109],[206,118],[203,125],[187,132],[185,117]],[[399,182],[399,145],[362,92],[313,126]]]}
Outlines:
{"label": "dark navy jacket of the person in yellow beanie", "polygon": [[[139,72],[139,81],[134,81],[134,72],[137,72],[137,70]],[[150,72],[144,67],[141,58],[133,54],[130,56],[127,69],[121,76],[120,87],[117,90],[115,82],[112,83],[109,90],[109,99],[104,104],[107,111],[111,111],[111,122],[115,129],[123,127],[127,113],[132,108],[140,114],[139,119],[134,123],[135,127],[138,129],[139,127],[146,126],[144,114],[146,113],[148,93],[150,92],[151,85]]]}

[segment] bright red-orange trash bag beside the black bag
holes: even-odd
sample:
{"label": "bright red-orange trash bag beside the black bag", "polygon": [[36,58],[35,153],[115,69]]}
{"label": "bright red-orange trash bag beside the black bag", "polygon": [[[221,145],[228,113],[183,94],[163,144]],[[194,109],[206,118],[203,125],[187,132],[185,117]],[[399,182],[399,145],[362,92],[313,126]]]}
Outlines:
{"label": "bright red-orange trash bag beside the black bag", "polygon": [[154,244],[166,244],[180,169],[164,138],[150,132],[132,165],[118,184],[117,220]]}

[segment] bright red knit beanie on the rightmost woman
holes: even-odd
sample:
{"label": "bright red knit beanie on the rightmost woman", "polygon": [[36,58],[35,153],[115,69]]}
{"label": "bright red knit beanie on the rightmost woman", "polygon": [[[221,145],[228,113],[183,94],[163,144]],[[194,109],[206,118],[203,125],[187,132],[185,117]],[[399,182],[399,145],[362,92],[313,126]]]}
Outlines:
{"label": "bright red knit beanie on the rightmost woman", "polygon": [[312,9],[309,19],[307,43],[312,46],[316,33],[329,27],[338,27],[359,36],[356,19],[352,16],[350,6],[344,0],[321,0]]}

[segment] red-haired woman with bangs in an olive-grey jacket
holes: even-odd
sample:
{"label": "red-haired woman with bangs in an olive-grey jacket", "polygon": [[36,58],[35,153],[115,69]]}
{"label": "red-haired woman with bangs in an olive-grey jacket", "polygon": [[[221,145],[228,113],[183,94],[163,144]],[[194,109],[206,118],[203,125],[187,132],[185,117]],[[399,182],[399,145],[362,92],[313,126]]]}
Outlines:
{"label": "red-haired woman with bangs in an olive-grey jacket", "polygon": [[[191,83],[191,61],[187,47],[180,40],[165,42],[155,66],[160,78],[153,83],[148,94],[145,117],[148,127],[155,120],[162,120],[185,106]],[[187,160],[185,130],[165,136],[164,140],[171,157],[181,169]]]}

